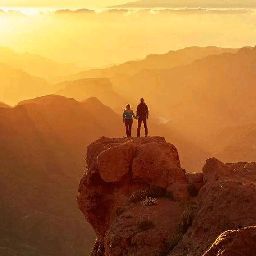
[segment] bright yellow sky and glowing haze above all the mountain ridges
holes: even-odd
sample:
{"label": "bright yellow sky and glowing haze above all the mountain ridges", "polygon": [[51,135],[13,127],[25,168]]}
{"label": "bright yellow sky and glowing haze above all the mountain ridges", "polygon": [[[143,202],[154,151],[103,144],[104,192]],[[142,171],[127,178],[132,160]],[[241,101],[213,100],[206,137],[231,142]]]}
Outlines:
{"label": "bright yellow sky and glowing haze above all the mountain ridges", "polygon": [[99,11],[125,2],[128,0],[0,0],[0,46],[93,68],[187,46],[255,45],[254,9]]}

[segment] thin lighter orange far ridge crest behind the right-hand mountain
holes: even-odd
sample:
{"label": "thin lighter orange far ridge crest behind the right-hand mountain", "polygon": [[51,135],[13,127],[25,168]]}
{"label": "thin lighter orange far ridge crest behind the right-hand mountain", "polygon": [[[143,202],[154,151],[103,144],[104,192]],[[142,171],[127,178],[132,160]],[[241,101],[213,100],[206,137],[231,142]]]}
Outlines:
{"label": "thin lighter orange far ridge crest behind the right-hand mountain", "polygon": [[[215,46],[209,47],[187,47],[177,51],[169,51],[166,54],[151,54],[146,59],[129,61],[124,64],[106,69],[91,69],[69,76],[70,79],[112,77],[113,75],[133,75],[143,69],[170,69],[176,66],[190,64],[196,59],[208,55],[218,55],[225,52],[236,53],[238,49],[225,49]],[[64,78],[62,78],[64,79]]]}

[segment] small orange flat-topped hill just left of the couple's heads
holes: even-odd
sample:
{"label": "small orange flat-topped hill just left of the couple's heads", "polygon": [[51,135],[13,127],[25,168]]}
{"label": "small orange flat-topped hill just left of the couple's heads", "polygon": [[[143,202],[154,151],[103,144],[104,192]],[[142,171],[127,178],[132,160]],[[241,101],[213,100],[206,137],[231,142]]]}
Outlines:
{"label": "small orange flat-topped hill just left of the couple's heads", "polygon": [[65,81],[56,85],[64,88],[56,94],[74,98],[77,101],[89,97],[97,97],[103,104],[111,108],[124,109],[128,103],[125,97],[113,90],[113,86],[107,78],[85,78],[73,81]]}

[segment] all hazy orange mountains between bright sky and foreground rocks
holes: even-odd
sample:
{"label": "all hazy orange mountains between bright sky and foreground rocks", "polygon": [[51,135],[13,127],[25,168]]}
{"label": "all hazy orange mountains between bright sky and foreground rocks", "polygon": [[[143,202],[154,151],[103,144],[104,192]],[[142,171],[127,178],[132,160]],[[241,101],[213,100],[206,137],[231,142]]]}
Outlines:
{"label": "all hazy orange mountains between bright sky and foreground rocks", "polygon": [[[125,104],[135,111],[141,96],[150,135],[173,143],[187,172],[201,171],[213,155],[255,160],[255,70],[256,48],[212,46],[149,55],[58,84],[0,64],[1,254],[89,252],[95,235],[75,201],[86,147],[101,136],[124,137]],[[63,96],[30,99],[49,91]]]}

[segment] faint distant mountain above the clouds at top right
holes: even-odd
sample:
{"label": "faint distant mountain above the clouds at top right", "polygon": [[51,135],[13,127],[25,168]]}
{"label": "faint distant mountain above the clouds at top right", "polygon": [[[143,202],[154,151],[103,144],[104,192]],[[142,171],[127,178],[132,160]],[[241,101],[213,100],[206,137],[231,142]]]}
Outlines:
{"label": "faint distant mountain above the clouds at top right", "polygon": [[165,8],[256,8],[255,0],[140,0],[117,7]]}

